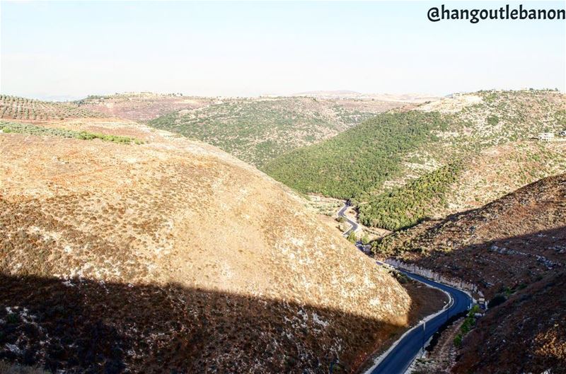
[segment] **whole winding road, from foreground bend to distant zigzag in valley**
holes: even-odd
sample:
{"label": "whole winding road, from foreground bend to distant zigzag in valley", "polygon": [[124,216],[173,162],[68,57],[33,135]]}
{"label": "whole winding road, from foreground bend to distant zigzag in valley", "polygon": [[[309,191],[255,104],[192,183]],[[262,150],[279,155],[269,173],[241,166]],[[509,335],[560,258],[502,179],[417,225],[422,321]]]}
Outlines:
{"label": "whole winding road, from foreground bend to distant zigzag in valley", "polygon": [[[352,230],[357,230],[358,223],[352,221],[345,215],[345,211],[350,207],[347,202],[338,211],[338,216],[344,217],[348,223],[352,226],[350,230],[347,230],[342,235],[347,236]],[[381,262],[377,262],[379,265],[383,265]],[[417,274],[412,274],[408,271],[398,269],[406,276],[415,281],[420,281],[423,284],[439,288],[445,291],[450,296],[450,303],[444,310],[437,312],[436,315],[427,317],[424,322],[419,325],[412,327],[412,329],[405,332],[398,341],[383,353],[378,360],[374,363],[374,366],[369,368],[364,372],[364,374],[403,374],[409,368],[412,361],[415,360],[424,344],[432,335],[437,332],[437,330],[444,325],[451,316],[456,315],[464,310],[468,310],[472,307],[472,298],[465,292],[458,290],[451,286],[446,286],[446,284],[441,284],[436,281],[424,278]]]}

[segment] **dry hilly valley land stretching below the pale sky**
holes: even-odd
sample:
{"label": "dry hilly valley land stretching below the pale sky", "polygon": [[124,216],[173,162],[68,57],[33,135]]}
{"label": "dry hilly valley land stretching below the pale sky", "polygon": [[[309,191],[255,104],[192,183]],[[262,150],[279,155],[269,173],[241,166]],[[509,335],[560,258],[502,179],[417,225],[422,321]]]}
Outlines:
{"label": "dry hilly valley land stretching below the pale sky", "polygon": [[[12,109],[0,122],[0,360],[48,371],[362,372],[447,303],[418,276],[375,264],[395,259],[473,284],[475,300],[492,304],[456,334],[461,346],[444,343],[442,370],[481,373],[475,356],[493,373],[559,366],[565,337],[552,324],[564,316],[536,327],[529,316],[563,301],[566,142],[536,139],[564,126],[563,95],[333,95],[2,96]],[[531,112],[515,119],[524,105]],[[531,302],[534,292],[554,301]],[[508,318],[530,326],[530,358],[502,365],[482,342]],[[502,326],[489,344],[512,332]],[[87,344],[93,334],[100,344]],[[369,372],[411,363],[422,345],[412,334],[399,343],[411,353]]]}

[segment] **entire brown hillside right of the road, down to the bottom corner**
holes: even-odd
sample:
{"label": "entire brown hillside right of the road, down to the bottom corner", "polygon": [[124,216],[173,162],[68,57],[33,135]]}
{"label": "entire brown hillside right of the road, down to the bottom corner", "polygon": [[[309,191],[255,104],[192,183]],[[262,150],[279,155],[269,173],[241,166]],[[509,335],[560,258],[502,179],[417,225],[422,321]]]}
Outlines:
{"label": "entire brown hillside right of the road, down to the bottom corner", "polygon": [[566,174],[398,231],[373,249],[476,284],[490,300],[454,373],[564,373]]}

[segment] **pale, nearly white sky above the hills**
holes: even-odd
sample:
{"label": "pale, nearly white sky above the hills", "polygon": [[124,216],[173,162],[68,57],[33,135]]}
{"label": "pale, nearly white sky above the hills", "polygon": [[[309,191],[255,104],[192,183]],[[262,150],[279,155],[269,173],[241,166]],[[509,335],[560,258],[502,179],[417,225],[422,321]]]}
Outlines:
{"label": "pale, nearly white sky above the hills", "polygon": [[[566,86],[565,21],[439,21],[513,1],[1,1],[0,92],[446,95]],[[565,1],[521,1],[564,8]]]}

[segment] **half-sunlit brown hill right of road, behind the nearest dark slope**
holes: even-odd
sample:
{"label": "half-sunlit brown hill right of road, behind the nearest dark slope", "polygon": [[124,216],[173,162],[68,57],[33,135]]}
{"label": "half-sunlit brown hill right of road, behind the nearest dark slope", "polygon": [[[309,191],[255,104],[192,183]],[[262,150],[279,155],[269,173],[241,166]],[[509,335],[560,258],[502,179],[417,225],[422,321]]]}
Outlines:
{"label": "half-sunlit brown hill right of road, behind the nearest dark slope", "polygon": [[374,251],[466,279],[494,296],[566,264],[565,240],[566,174],[562,174],[480,209],[393,233],[374,243]]}

